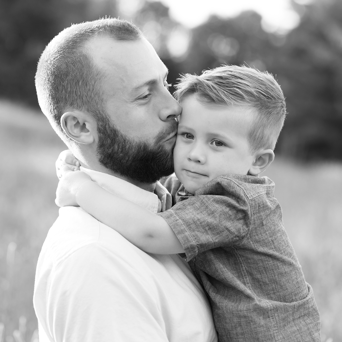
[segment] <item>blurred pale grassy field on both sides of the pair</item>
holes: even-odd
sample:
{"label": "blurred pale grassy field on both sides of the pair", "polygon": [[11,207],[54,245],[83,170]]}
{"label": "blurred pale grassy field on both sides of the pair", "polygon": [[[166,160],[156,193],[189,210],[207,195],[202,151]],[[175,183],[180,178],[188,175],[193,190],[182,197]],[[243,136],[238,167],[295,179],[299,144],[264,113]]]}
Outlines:
{"label": "blurred pale grassy field on both sides of the pair", "polygon": [[[3,341],[19,341],[13,331],[20,317],[21,334],[31,341],[37,328],[32,306],[35,267],[58,215],[54,162],[65,145],[41,113],[0,101],[0,146]],[[276,183],[286,230],[314,289],[322,341],[342,341],[342,164],[298,164],[277,157],[265,175]]]}

